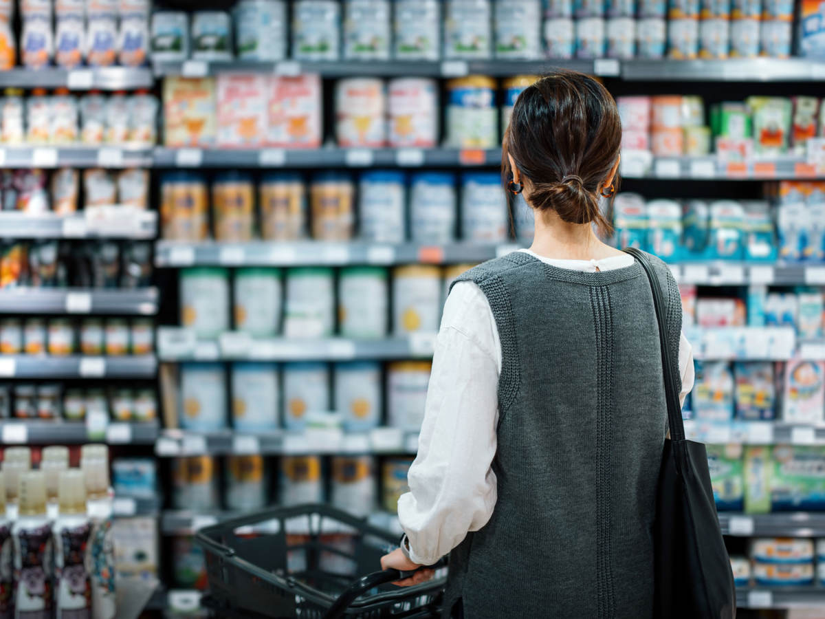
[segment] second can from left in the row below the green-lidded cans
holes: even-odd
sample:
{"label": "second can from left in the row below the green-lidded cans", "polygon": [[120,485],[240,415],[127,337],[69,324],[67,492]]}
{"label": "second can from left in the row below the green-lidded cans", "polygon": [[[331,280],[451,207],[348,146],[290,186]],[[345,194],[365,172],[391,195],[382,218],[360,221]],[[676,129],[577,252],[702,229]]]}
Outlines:
{"label": "second can from left in the row below the green-lidded cans", "polygon": [[236,431],[275,430],[280,404],[275,363],[232,364],[232,425]]}

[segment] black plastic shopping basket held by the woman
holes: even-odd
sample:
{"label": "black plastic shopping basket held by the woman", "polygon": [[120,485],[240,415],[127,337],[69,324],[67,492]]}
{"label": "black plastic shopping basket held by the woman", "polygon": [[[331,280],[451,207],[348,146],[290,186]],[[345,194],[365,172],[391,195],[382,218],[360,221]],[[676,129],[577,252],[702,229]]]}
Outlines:
{"label": "black plastic shopping basket held by the woman", "polygon": [[[196,533],[219,617],[413,619],[441,612],[446,569],[413,587],[375,571],[398,536],[328,505],[275,508]],[[360,574],[369,574],[359,578]]]}

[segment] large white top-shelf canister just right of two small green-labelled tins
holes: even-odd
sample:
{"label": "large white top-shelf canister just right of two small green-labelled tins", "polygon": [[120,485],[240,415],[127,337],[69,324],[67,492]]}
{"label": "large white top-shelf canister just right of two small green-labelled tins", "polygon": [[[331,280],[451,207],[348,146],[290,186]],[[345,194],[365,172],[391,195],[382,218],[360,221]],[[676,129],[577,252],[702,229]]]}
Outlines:
{"label": "large white top-shelf canister just right of two small green-labelled tins", "polygon": [[286,2],[241,0],[233,11],[235,47],[241,60],[286,57]]}

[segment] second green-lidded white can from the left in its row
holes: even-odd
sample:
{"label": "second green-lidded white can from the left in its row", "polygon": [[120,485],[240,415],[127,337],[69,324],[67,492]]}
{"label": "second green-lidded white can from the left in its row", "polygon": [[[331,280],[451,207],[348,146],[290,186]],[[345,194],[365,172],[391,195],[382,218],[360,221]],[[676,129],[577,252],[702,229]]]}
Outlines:
{"label": "second green-lidded white can from the left in its row", "polygon": [[235,271],[235,328],[254,337],[271,337],[281,326],[281,270],[247,267]]}

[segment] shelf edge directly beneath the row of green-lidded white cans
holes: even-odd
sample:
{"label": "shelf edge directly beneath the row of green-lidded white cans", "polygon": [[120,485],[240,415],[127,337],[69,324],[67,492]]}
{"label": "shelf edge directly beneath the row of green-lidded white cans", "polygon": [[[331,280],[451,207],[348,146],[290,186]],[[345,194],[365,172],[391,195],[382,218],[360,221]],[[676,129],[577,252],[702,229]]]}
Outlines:
{"label": "shelf edge directly beneath the row of green-lidded white cans", "polygon": [[355,340],[347,338],[251,338],[226,332],[217,340],[198,340],[186,328],[158,328],[161,361],[348,361],[353,359],[426,359],[432,357],[436,333],[408,338]]}

